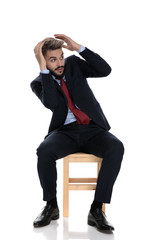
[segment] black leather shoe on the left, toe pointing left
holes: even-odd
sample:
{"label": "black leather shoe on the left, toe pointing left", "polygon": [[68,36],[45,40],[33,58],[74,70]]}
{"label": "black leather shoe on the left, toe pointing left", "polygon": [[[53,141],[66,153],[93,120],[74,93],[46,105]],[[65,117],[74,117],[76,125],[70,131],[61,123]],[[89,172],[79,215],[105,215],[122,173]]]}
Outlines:
{"label": "black leather shoe on the left, toe pointing left", "polygon": [[57,220],[59,218],[59,209],[52,207],[48,204],[44,207],[43,211],[34,220],[34,227],[44,227],[50,224],[51,220]]}

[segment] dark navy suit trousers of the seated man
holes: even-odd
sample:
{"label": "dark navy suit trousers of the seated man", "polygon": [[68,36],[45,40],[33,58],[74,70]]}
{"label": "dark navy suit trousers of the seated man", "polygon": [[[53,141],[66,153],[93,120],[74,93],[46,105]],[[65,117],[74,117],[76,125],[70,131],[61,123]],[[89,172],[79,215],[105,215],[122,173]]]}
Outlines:
{"label": "dark navy suit trousers of the seated man", "polygon": [[103,158],[95,200],[110,203],[113,185],[121,167],[124,147],[113,134],[93,122],[89,125],[64,125],[52,131],[38,147],[37,168],[43,189],[43,200],[49,201],[56,197],[56,161],[76,152],[94,154]]}

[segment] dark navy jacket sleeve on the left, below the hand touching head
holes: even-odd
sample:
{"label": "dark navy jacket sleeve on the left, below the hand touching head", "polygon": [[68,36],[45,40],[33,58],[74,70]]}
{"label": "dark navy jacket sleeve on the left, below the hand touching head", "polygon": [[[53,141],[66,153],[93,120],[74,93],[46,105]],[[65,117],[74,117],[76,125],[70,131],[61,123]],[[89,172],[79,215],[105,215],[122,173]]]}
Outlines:
{"label": "dark navy jacket sleeve on the left, below the hand touching head", "polygon": [[32,91],[41,100],[46,108],[54,111],[57,106],[57,90],[51,74],[41,73],[30,84]]}

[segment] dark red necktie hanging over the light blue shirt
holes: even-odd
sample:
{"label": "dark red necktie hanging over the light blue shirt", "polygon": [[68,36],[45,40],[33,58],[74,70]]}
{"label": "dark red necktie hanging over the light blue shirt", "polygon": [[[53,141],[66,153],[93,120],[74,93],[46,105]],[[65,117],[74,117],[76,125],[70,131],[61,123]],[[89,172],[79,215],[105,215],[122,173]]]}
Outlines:
{"label": "dark red necktie hanging over the light blue shirt", "polygon": [[68,100],[68,107],[71,110],[71,112],[74,114],[78,124],[89,124],[90,118],[84,112],[82,112],[81,110],[79,110],[78,108],[75,107],[75,105],[71,99],[71,96],[68,91],[66,83],[64,82],[63,79],[60,79],[60,81],[61,81],[61,88]]}

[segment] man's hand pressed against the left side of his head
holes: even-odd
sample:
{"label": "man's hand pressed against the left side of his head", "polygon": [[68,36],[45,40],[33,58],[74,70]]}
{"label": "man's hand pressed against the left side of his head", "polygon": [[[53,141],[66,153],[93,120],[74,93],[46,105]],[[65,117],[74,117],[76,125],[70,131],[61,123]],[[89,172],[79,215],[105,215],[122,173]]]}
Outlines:
{"label": "man's hand pressed against the left side of his head", "polygon": [[35,48],[34,48],[34,53],[35,53],[35,57],[39,63],[39,67],[40,67],[40,70],[45,70],[47,69],[47,66],[46,66],[46,60],[42,54],[42,47],[43,47],[43,44],[44,42],[39,42]]}

